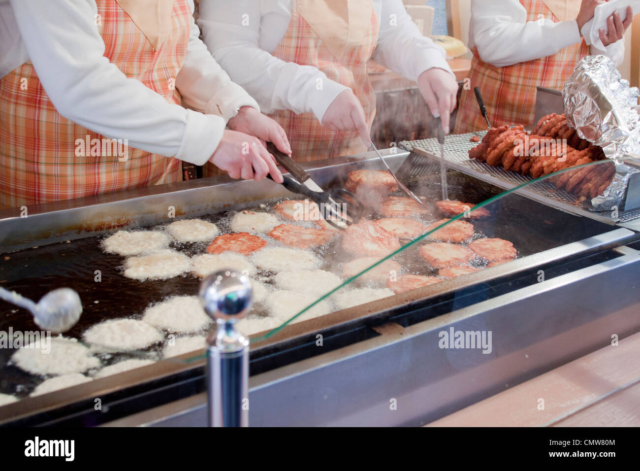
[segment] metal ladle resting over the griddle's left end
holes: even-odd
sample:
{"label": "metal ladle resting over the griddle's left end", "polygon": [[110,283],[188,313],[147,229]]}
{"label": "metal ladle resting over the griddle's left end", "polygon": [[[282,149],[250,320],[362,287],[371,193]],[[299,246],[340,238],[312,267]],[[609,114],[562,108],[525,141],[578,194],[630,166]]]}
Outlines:
{"label": "metal ladle resting over the griddle's left end", "polygon": [[0,299],[31,311],[36,325],[53,333],[68,331],[82,314],[80,297],[71,288],[50,291],[37,304],[15,291],[0,288]]}

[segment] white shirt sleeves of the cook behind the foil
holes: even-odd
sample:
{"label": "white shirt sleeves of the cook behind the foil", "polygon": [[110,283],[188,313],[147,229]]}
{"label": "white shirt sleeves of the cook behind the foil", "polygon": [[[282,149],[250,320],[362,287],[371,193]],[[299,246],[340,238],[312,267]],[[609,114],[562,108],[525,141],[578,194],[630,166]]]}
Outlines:
{"label": "white shirt sleeves of the cook behind the foil", "polygon": [[[518,0],[472,0],[469,48],[477,47],[483,62],[506,67],[518,62],[547,57],[580,42],[575,20],[527,21],[527,10]],[[605,54],[620,65],[625,57],[624,41],[591,54]]]}

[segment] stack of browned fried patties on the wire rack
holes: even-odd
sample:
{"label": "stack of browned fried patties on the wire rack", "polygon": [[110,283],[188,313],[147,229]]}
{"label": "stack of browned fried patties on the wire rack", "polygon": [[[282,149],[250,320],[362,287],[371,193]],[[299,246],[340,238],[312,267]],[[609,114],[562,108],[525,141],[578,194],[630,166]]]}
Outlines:
{"label": "stack of browned fried patties on the wire rack", "polygon": [[[566,145],[563,145],[566,144]],[[469,157],[492,167],[538,178],[596,160],[605,160],[602,148],[580,138],[564,114],[540,119],[531,134],[523,126],[500,126],[486,133]],[[559,190],[576,196],[578,202],[601,195],[616,172],[612,162],[590,165],[551,178]]]}

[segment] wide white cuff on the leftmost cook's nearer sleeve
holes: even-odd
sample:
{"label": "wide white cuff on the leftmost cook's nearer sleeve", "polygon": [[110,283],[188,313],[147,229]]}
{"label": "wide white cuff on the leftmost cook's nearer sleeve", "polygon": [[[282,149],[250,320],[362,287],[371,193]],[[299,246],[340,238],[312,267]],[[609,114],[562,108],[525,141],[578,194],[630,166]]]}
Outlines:
{"label": "wide white cuff on the leftmost cook's nearer sleeve", "polygon": [[204,165],[218,148],[226,126],[227,120],[223,117],[187,110],[184,137],[175,158]]}

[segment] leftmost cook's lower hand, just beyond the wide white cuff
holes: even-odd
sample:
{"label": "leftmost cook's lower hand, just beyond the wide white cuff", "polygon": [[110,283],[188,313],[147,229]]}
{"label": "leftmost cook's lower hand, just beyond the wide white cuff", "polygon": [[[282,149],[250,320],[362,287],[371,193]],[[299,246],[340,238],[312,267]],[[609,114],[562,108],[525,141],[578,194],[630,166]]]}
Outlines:
{"label": "leftmost cook's lower hand, just beyond the wide white cuff", "polygon": [[277,183],[282,183],[282,173],[275,158],[255,137],[225,129],[218,149],[209,161],[231,178],[261,180],[271,174]]}

